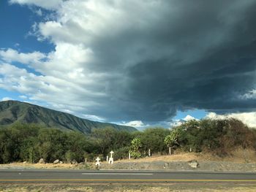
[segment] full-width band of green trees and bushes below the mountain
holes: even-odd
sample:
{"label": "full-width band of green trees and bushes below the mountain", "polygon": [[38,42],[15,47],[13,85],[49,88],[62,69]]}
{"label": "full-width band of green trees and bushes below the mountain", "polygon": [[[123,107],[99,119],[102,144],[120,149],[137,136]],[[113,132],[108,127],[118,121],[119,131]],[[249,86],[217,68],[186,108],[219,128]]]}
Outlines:
{"label": "full-width band of green trees and bushes below the mountain", "polygon": [[[239,120],[190,120],[171,130],[148,128],[127,132],[113,128],[94,129],[85,135],[77,131],[42,128],[34,124],[15,124],[0,128],[0,163],[27,161],[52,163],[94,161],[114,150],[114,158],[141,158],[152,154],[207,151],[225,156],[236,147],[256,148],[256,131]],[[148,152],[150,150],[150,153]]]}

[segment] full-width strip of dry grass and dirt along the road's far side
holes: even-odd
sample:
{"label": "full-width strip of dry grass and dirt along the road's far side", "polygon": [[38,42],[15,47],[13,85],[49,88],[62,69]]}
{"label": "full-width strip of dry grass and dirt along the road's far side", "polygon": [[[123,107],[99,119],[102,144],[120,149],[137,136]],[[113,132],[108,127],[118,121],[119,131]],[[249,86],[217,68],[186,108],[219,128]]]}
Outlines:
{"label": "full-width strip of dry grass and dirt along the road's far side", "polygon": [[[191,164],[193,163],[193,164]],[[86,164],[1,164],[0,169],[97,169],[94,162]],[[108,164],[103,161],[99,169],[127,170],[197,170],[256,172],[254,150],[238,149],[232,155],[220,158],[210,153],[178,153],[159,155],[150,158],[125,159]]]}

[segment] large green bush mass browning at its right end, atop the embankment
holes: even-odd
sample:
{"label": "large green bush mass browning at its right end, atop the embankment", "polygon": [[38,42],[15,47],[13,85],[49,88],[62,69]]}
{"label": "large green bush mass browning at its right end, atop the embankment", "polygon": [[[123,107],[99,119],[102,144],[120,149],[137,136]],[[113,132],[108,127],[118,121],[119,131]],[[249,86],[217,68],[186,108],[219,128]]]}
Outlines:
{"label": "large green bush mass browning at its right end, atop the embankment", "polygon": [[215,151],[221,156],[231,153],[235,147],[252,147],[256,139],[252,129],[233,118],[191,120],[173,130],[183,131],[183,134],[179,134],[175,139],[169,139],[169,145],[176,145],[185,151],[190,147],[195,152]]}

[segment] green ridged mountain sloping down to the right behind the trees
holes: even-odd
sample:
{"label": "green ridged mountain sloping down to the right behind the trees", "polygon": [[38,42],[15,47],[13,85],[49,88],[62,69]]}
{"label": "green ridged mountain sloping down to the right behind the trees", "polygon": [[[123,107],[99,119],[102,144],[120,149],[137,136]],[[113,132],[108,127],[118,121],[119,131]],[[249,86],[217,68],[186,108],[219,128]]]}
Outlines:
{"label": "green ridged mountain sloping down to the right behind the trees", "polygon": [[112,127],[117,130],[137,131],[131,126],[119,126],[113,123],[100,123],[97,121],[78,118],[66,112],[50,110],[34,104],[20,101],[0,102],[0,126],[10,126],[13,123],[36,123],[49,128],[80,131],[89,134],[92,128]]}

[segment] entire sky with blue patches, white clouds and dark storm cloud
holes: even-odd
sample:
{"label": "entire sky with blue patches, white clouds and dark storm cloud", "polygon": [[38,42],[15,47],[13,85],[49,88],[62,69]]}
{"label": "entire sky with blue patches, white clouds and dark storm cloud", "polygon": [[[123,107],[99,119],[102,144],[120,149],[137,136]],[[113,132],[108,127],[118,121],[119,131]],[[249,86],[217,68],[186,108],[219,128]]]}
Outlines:
{"label": "entire sky with blue patches, white clouds and dark storm cloud", "polygon": [[0,100],[145,128],[256,127],[256,0],[0,1]]}

